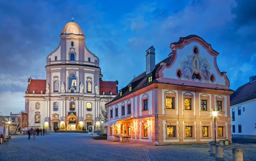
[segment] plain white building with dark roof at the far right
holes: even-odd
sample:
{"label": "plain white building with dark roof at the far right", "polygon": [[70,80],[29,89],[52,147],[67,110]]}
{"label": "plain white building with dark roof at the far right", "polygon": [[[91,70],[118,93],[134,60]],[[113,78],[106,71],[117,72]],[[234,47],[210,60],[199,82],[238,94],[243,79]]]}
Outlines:
{"label": "plain white building with dark roof at the far right", "polygon": [[230,95],[232,137],[256,139],[256,76]]}

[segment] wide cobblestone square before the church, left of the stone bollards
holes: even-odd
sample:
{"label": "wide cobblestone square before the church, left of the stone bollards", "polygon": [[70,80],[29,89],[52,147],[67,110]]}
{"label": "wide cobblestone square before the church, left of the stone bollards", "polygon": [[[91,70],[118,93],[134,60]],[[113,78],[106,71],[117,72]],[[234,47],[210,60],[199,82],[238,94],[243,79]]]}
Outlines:
{"label": "wide cobblestone square before the church, left of the stone bollards", "polygon": [[95,135],[58,133],[37,136],[15,135],[0,145],[0,161],[231,161],[215,159],[208,144],[149,146],[93,140]]}

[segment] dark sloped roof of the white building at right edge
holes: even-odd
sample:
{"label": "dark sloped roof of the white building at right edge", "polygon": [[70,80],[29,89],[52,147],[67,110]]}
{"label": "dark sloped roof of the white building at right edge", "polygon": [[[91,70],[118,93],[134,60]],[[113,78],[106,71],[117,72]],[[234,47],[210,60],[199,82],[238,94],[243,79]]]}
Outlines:
{"label": "dark sloped roof of the white building at right edge", "polygon": [[235,105],[256,98],[256,81],[248,82],[230,95],[230,105]]}

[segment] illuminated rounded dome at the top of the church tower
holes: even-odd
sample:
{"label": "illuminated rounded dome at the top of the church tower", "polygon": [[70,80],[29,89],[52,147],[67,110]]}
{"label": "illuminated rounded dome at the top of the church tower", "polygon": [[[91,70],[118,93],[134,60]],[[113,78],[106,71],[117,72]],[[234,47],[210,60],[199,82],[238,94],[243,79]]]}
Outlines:
{"label": "illuminated rounded dome at the top of the church tower", "polygon": [[68,22],[60,32],[60,35],[79,35],[85,36],[80,26],[75,22]]}

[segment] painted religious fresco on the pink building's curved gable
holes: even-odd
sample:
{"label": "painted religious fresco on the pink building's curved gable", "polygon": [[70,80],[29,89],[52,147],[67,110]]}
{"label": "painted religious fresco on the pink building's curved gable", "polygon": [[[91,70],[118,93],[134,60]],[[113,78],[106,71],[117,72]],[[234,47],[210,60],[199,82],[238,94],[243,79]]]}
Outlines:
{"label": "painted religious fresco on the pink building's curved gable", "polygon": [[200,73],[204,82],[210,79],[210,65],[205,57],[188,53],[186,58],[181,62],[183,78],[190,80],[194,72]]}

